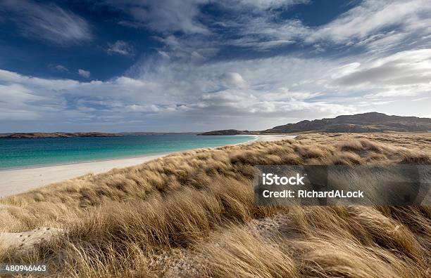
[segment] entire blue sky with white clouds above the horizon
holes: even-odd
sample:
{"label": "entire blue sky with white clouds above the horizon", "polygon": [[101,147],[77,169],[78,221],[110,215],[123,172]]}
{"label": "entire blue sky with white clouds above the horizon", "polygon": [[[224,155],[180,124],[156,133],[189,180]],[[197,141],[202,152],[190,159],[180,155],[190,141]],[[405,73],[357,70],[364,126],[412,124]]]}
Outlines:
{"label": "entire blue sky with white clouds above the horizon", "polygon": [[431,117],[429,0],[0,0],[0,133]]}

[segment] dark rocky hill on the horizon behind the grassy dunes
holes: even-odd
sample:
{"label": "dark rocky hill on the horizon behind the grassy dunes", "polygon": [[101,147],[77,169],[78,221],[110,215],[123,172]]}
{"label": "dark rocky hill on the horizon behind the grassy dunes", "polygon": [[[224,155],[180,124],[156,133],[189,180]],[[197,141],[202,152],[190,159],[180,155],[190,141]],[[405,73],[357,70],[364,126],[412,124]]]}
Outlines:
{"label": "dark rocky hill on the horizon behind the grassy dunes", "polygon": [[[226,133],[227,131],[228,133]],[[246,134],[245,131],[227,131],[210,131],[206,133],[201,133],[201,135]],[[363,133],[384,131],[426,132],[431,131],[431,119],[418,117],[389,116],[383,113],[369,112],[363,114],[342,115],[330,119],[299,121],[296,124],[275,126],[264,131],[257,131],[257,133],[296,133],[307,131],[335,133]],[[249,133],[249,131],[247,131],[247,133]]]}

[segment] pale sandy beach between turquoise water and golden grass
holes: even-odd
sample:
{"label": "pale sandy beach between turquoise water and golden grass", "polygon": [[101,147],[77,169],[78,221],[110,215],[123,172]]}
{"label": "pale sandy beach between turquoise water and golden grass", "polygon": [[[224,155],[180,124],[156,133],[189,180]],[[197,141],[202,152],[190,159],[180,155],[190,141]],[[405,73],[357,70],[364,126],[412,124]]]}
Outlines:
{"label": "pale sandy beach between turquoise water and golden grass", "polygon": [[[256,140],[258,141],[274,141],[294,138],[292,135],[256,135],[256,137]],[[252,140],[247,143],[251,143],[256,140]],[[142,157],[0,171],[0,198],[26,192],[28,190],[60,182],[62,180],[77,178],[89,173],[104,173],[113,168],[123,168],[142,164],[146,161],[164,157],[170,153],[172,152],[144,155]]]}

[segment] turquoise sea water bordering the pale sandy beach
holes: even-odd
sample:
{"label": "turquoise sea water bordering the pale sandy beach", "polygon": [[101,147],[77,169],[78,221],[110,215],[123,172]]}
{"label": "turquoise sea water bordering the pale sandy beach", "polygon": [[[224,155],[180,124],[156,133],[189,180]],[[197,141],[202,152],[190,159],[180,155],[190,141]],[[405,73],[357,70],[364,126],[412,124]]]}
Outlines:
{"label": "turquoise sea water bordering the pale sandy beach", "polygon": [[28,168],[244,143],[254,136],[125,135],[0,139],[0,168]]}

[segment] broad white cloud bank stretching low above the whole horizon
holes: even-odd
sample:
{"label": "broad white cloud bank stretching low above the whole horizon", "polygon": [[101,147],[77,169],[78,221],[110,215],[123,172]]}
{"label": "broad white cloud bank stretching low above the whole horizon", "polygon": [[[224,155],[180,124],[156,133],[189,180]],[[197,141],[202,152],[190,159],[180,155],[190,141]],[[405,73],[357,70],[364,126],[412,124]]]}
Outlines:
{"label": "broad white cloud bank stretching low above the whole horizon", "polygon": [[159,131],[263,129],[373,110],[423,116],[431,105],[430,55],[422,49],[339,59],[161,58],[139,61],[134,77],[87,82],[0,70],[0,84],[7,86],[0,88],[0,99],[7,100],[0,110],[15,110],[8,116],[13,121],[41,124],[56,117],[61,126]]}

